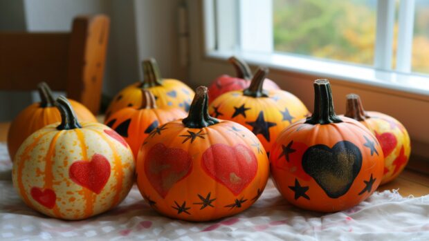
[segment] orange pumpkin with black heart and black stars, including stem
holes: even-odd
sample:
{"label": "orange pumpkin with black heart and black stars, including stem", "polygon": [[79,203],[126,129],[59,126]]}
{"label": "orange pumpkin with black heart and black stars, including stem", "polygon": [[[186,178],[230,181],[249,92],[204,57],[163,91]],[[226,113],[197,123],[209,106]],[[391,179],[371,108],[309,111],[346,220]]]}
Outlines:
{"label": "orange pumpkin with black heart and black stars, including stem", "polygon": [[273,180],[302,209],[349,209],[380,184],[383,151],[363,124],[336,115],[327,79],[316,80],[314,88],[313,115],[286,128],[273,144]]}

